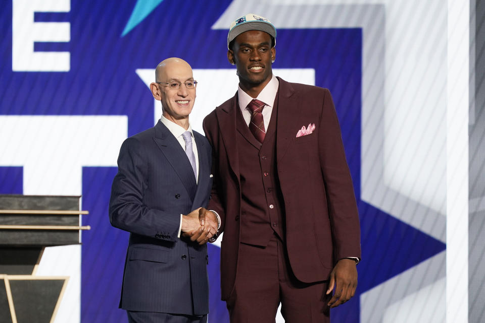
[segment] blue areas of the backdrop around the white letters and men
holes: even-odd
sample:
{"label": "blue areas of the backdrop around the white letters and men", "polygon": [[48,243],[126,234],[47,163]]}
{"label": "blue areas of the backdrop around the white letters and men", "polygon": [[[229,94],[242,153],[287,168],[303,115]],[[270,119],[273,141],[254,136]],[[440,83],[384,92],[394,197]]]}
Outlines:
{"label": "blue areas of the backdrop around the white letters and men", "polygon": [[[126,115],[128,136],[145,130],[153,126],[153,98],[134,71],[153,69],[170,56],[185,59],[193,69],[230,69],[227,31],[211,29],[229,4],[222,0],[71,0],[69,12],[34,15],[35,22],[70,23],[69,42],[34,44],[34,51],[70,52],[70,70],[13,72],[12,2],[3,1],[0,115]],[[314,69],[315,84],[330,89],[342,126],[358,199],[363,253],[357,295],[332,310],[334,322],[359,322],[361,293],[445,249],[442,242],[360,200],[362,41],[359,28],[279,29],[273,65],[274,69]],[[210,86],[217,88],[223,82],[213,80]],[[92,227],[82,237],[82,323],[126,321],[117,307],[128,234],[112,228],[108,219],[116,171],[116,167],[82,170],[82,209],[91,214],[84,217],[83,225]],[[0,193],[22,193],[22,182],[22,165],[0,165]],[[228,322],[220,301],[219,248],[210,245],[209,252],[209,321]]]}

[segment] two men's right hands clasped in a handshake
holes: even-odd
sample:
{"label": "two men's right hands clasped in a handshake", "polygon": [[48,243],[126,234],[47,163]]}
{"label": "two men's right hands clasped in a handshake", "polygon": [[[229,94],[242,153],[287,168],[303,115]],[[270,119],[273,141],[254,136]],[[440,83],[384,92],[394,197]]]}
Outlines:
{"label": "two men's right hands clasped in a handshake", "polygon": [[207,241],[215,241],[218,226],[219,221],[215,213],[205,208],[199,208],[187,215],[182,215],[182,236],[192,242],[204,244]]}

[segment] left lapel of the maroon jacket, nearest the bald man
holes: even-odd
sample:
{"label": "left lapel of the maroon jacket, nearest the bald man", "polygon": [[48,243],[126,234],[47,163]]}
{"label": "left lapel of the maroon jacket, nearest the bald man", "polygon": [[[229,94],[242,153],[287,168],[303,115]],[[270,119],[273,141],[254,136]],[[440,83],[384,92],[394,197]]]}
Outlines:
{"label": "left lapel of the maroon jacket, nearest the bald man", "polygon": [[239,179],[239,154],[236,144],[236,112],[238,109],[237,92],[232,97],[230,104],[227,107],[216,109],[217,120],[222,135],[222,141],[227,153],[229,165]]}

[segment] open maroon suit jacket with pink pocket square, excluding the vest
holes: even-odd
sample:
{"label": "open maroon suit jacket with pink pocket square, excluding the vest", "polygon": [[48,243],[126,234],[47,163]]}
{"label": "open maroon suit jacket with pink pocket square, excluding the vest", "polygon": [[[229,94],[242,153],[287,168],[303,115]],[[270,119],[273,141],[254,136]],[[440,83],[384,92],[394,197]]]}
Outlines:
{"label": "open maroon suit jacket with pink pocket square, excluding the vest", "polygon": [[[285,207],[286,248],[302,282],[327,280],[336,261],[360,258],[360,227],[340,126],[328,89],[280,78],[276,167]],[[241,191],[236,146],[237,93],[204,119],[213,147],[214,186],[209,209],[221,216],[222,299],[237,272]],[[296,137],[302,126],[312,134]],[[244,158],[244,157],[242,157]]]}

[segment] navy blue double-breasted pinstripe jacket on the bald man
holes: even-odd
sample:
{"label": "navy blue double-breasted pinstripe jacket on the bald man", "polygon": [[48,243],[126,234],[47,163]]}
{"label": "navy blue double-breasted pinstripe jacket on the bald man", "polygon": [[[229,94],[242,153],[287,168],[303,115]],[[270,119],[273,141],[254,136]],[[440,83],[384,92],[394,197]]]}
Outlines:
{"label": "navy blue double-breasted pinstripe jacket on the bald man", "polygon": [[109,213],[113,226],[130,232],[123,309],[209,312],[207,246],[177,238],[180,214],[207,207],[212,186],[210,145],[193,135],[198,184],[183,148],[161,121],[121,146]]}

